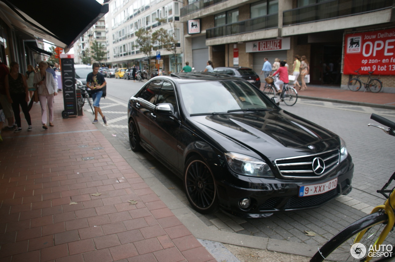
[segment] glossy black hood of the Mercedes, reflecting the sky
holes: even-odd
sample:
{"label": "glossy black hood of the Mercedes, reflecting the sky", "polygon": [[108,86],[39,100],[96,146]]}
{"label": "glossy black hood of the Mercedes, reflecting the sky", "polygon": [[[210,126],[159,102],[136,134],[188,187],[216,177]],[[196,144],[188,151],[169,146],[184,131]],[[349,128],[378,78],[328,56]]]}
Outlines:
{"label": "glossy black hood of the Mercedes, reflecting the sky", "polygon": [[251,155],[251,151],[278,158],[339,149],[337,135],[284,110],[245,114],[216,114],[189,118],[199,134],[224,152]]}

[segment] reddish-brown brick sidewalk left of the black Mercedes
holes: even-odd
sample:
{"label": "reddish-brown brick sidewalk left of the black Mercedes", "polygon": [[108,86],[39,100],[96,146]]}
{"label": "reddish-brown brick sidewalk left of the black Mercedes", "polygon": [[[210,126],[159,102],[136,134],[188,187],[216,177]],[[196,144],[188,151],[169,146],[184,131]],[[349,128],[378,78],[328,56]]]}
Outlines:
{"label": "reddish-brown brick sidewalk left of the black Mercedes", "polygon": [[88,117],[62,110],[60,92],[55,127],[34,104],[33,131],[2,131],[2,261],[215,261]]}

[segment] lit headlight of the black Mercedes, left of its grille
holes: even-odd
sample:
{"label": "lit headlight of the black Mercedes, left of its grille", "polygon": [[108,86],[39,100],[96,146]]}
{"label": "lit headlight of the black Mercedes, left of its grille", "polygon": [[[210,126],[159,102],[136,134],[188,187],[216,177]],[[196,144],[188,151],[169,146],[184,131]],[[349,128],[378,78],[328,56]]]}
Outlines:
{"label": "lit headlight of the black Mercedes, left of its grille", "polygon": [[226,152],[225,157],[230,169],[237,174],[274,178],[272,170],[265,161],[233,152]]}

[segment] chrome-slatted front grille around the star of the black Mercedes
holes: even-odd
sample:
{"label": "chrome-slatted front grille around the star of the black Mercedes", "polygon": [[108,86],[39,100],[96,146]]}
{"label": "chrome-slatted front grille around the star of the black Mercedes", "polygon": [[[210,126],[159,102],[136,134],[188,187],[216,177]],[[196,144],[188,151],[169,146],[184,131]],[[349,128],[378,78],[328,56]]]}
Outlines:
{"label": "chrome-slatted front grille around the star of the black Mercedes", "polygon": [[[313,160],[316,158],[324,160],[325,169],[323,172],[313,171]],[[339,158],[339,150],[332,150],[314,155],[276,159],[275,165],[284,178],[321,178],[339,164]]]}

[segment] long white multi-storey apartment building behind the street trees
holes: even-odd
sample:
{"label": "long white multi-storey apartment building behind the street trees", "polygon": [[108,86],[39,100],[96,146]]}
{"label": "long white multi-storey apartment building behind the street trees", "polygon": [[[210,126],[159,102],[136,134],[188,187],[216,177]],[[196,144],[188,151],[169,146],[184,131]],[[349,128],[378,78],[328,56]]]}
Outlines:
{"label": "long white multi-storey apartment building behind the street trees", "polygon": [[[109,13],[106,15],[107,25],[107,60],[113,67],[131,67],[133,64],[144,69],[148,64],[157,64],[165,71],[181,71],[183,39],[180,8],[177,0],[110,0]],[[158,22],[157,18],[166,22]],[[177,38],[177,55],[166,51],[159,43],[153,43],[151,60],[136,47],[135,32],[140,28],[175,32]],[[156,52],[160,52],[160,60],[156,60]]]}

